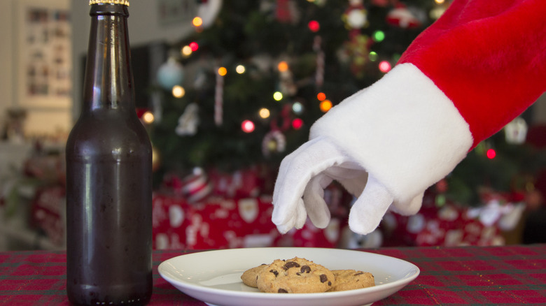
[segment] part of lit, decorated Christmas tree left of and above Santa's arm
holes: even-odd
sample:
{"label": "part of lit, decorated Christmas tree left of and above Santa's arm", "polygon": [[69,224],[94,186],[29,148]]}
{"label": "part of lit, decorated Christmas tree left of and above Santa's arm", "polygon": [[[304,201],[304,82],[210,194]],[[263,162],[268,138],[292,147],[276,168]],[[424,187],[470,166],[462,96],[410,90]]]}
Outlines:
{"label": "part of lit, decorated Christmas tree left of and above Santa's arm", "polygon": [[[158,74],[165,80],[162,119],[151,129],[158,177],[194,166],[276,168],[318,117],[379,80],[446,6],[225,1],[210,27],[197,23],[195,34],[172,45],[167,73]],[[176,98],[171,88],[180,80],[168,68],[181,66],[186,80]]]}

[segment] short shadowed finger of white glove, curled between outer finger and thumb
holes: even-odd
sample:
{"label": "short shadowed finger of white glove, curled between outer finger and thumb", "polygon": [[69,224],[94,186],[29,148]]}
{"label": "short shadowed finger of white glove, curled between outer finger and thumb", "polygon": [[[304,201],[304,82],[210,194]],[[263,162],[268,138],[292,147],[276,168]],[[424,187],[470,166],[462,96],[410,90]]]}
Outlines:
{"label": "short shadowed finger of white glove, curled between outer finger and thumb", "polygon": [[324,201],[324,189],[332,182],[332,178],[319,174],[311,178],[303,193],[303,203],[309,219],[314,226],[325,228],[330,222],[330,209]]}

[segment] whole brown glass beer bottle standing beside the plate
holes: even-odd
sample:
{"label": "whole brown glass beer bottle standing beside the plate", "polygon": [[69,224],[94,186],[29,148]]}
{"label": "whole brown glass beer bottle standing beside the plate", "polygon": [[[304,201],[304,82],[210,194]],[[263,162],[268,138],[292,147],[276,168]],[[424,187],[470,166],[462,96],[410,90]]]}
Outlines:
{"label": "whole brown glass beer bottle standing beside the plate", "polygon": [[66,291],[77,305],[141,305],[152,293],[151,142],[134,109],[127,6],[92,2],[83,106],[66,142]]}

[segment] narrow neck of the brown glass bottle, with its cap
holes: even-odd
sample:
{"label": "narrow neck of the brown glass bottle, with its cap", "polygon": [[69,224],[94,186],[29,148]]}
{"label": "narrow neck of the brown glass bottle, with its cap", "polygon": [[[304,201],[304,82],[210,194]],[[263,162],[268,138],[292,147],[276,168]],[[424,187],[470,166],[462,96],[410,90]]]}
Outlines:
{"label": "narrow neck of the brown glass bottle, with its cap", "polygon": [[127,6],[93,4],[90,16],[91,31],[82,110],[118,109],[134,112]]}

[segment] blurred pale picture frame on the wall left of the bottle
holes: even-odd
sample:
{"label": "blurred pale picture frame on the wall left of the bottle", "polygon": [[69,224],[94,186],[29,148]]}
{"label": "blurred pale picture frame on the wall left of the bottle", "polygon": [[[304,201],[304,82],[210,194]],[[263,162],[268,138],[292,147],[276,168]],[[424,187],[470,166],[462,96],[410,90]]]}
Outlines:
{"label": "blurred pale picture frame on the wall left of the bottle", "polygon": [[38,110],[71,108],[69,1],[18,0],[14,10],[16,104]]}

